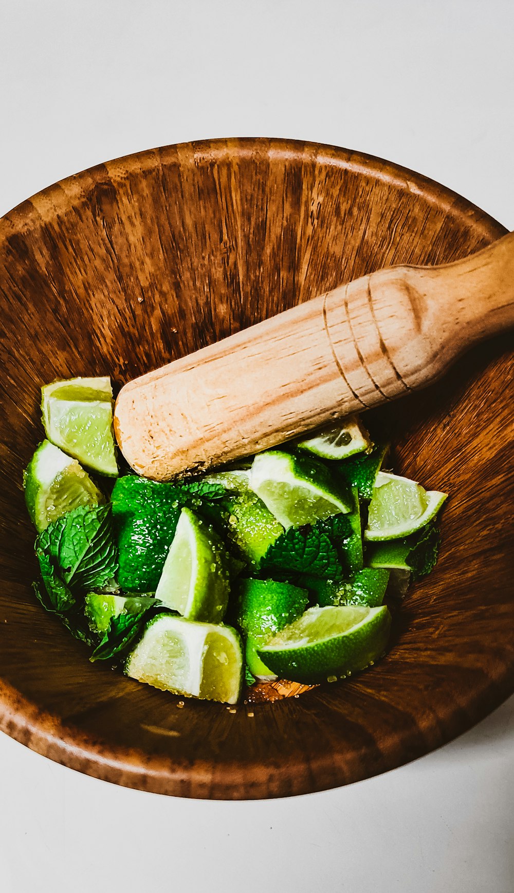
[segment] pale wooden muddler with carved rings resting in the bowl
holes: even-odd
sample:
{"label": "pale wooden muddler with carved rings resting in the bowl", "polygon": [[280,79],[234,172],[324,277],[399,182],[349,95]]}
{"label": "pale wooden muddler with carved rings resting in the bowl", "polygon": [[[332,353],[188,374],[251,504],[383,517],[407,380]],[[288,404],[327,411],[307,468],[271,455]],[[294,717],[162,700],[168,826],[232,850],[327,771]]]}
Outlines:
{"label": "pale wooden muddler with carved rings resting in the bowl", "polygon": [[258,453],[438,378],[514,323],[514,233],[439,267],[391,267],[121,388],[132,468],[170,480]]}

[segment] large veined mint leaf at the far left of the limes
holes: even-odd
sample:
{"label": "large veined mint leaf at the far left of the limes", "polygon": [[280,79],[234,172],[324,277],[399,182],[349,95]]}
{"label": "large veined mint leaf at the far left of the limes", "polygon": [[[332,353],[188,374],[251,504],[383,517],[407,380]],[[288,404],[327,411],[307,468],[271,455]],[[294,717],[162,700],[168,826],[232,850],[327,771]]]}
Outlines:
{"label": "large veined mint leaf at the far left of the limes", "polygon": [[43,530],[36,549],[38,556],[53,559],[72,590],[115,588],[118,559],[110,505],[80,505],[64,514]]}

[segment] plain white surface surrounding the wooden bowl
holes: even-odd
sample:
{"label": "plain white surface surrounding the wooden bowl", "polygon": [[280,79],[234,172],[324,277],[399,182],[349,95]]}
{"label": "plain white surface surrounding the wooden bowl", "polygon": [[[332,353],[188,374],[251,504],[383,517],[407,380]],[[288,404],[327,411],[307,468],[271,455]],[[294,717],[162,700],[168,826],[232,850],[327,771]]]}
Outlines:
{"label": "plain white surface surrounding the wooden bowl", "polygon": [[[377,154],[514,229],[511,0],[0,0],[0,213],[182,140]],[[493,567],[492,567],[493,572]],[[2,893],[512,893],[514,701],[349,788],[187,801],[0,736]]]}

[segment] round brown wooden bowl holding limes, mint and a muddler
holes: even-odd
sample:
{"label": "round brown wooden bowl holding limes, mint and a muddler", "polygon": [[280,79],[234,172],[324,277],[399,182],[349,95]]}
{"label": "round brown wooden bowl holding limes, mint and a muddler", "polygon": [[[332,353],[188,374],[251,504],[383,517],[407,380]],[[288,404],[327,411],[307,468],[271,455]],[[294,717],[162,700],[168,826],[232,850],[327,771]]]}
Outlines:
{"label": "round brown wooden bowl holding limes, mint and a muddler", "polygon": [[514,689],[507,338],[375,413],[394,468],[448,490],[435,572],[368,672],[229,711],[91,664],[37,605],[21,472],[39,388],[120,384],[395,263],[444,263],[505,230],[434,182],[344,149],[229,139],[168,146],[63,180],[0,221],[0,728],[98,778],[187,797],[332,788],[426,754]]}

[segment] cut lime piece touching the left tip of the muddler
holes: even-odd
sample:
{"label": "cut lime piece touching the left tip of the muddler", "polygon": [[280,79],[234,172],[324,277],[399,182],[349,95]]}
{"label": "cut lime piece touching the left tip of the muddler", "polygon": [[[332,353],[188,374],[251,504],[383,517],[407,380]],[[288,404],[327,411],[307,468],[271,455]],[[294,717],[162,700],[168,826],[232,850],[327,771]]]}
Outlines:
{"label": "cut lime piece touching the left tip of the muddler", "polygon": [[94,472],[118,475],[108,377],[54,381],[41,388],[46,437]]}

